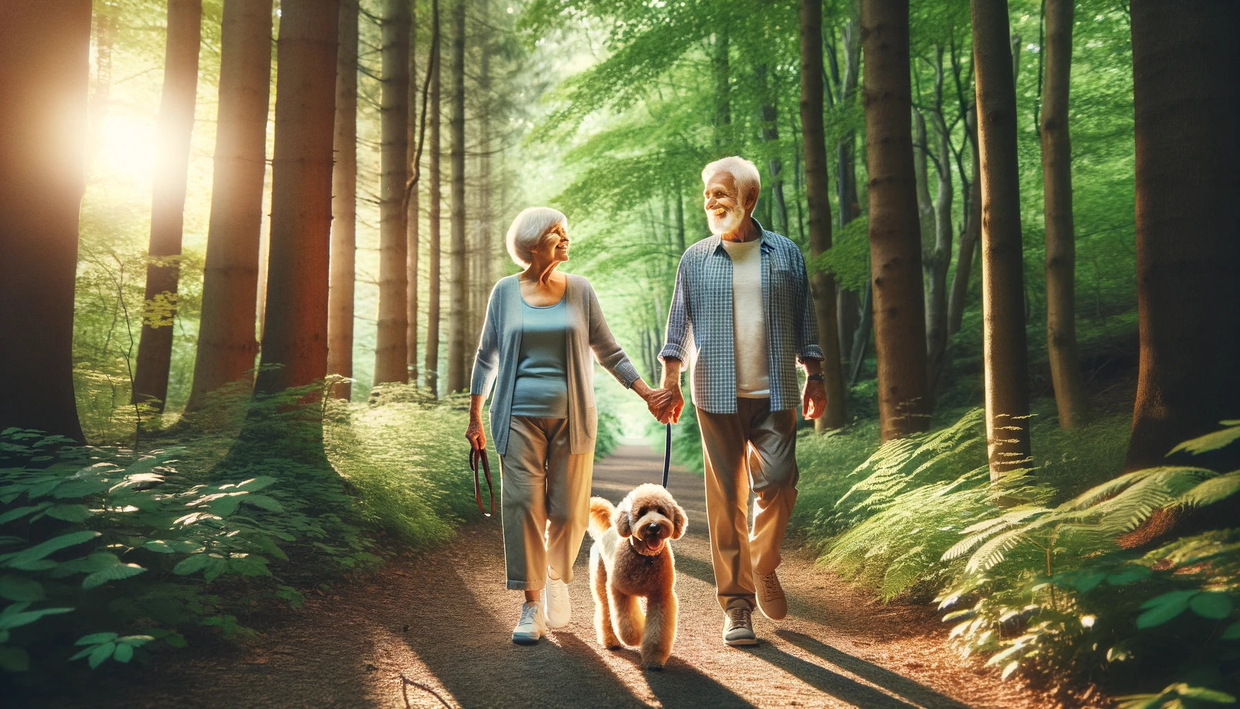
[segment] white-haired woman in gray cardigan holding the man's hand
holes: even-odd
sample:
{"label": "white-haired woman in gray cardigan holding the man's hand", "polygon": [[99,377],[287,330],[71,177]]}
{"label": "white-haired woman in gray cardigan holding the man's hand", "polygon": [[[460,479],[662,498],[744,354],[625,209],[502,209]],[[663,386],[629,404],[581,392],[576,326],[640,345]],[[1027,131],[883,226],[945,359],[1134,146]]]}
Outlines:
{"label": "white-haired woman in gray cardigan holding the man's hand", "polygon": [[590,282],[560,273],[568,220],[529,207],[508,227],[508,253],[525,268],[501,278],[486,305],[474,360],[465,437],[486,445],[482,401],[491,387],[491,435],[502,468],[508,589],[525,591],[512,642],[538,642],[568,625],[568,582],[589,522],[598,410],[594,358],[653,412],[671,399],[652,390],[616,344]]}

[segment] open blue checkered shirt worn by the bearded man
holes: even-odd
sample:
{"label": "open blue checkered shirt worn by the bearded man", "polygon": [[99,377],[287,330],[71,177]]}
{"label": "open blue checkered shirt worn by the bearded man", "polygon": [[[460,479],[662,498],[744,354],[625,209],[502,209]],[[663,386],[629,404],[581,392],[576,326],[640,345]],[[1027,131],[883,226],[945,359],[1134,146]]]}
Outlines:
{"label": "open blue checkered shirt worn by the bearded man", "polygon": [[[810,297],[805,256],[786,236],[763,232],[763,313],[771,411],[801,402],[796,363],[822,359],[818,319]],[[732,257],[718,236],[684,250],[667,314],[667,344],[658,359],[693,366],[693,404],[711,413],[737,412],[737,361],[732,333]]]}

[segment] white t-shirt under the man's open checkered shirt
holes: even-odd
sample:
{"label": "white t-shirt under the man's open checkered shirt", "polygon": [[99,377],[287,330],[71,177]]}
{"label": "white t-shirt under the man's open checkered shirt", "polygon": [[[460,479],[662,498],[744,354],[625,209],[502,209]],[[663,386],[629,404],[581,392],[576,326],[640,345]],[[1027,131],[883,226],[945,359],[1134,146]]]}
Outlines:
{"label": "white t-shirt under the man's open checkered shirt", "polygon": [[737,359],[737,396],[771,395],[766,363],[766,318],[763,313],[761,240],[723,241],[732,258],[732,336]]}

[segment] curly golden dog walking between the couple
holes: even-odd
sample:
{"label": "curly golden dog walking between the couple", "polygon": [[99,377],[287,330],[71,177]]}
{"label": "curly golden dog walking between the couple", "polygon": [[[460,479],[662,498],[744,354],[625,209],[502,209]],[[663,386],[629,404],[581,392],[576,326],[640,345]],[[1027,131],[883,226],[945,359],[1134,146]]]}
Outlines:
{"label": "curly golden dog walking between the couple", "polygon": [[[590,590],[594,628],[609,649],[640,647],[641,667],[662,669],[676,639],[672,539],[688,519],[661,485],[646,483],[619,507],[590,498]],[[639,598],[646,598],[646,612]]]}

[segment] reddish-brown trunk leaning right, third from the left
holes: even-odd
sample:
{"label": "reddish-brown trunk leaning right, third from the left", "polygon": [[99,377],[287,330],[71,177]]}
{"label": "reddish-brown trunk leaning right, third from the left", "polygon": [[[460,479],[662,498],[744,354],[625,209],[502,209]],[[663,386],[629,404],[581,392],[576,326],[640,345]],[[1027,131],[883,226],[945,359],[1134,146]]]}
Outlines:
{"label": "reddish-brown trunk leaning right, third from the left", "polygon": [[270,86],[272,0],[227,0],[202,320],[186,411],[228,382],[253,381]]}

